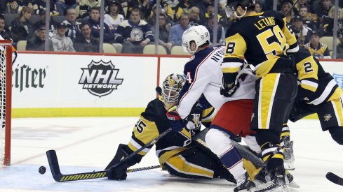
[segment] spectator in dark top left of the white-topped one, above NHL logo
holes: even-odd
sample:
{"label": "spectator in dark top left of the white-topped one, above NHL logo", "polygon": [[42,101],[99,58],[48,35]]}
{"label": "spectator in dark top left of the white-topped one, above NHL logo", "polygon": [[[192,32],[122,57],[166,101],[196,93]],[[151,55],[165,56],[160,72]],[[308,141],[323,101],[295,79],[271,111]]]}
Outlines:
{"label": "spectator in dark top left of the white-topped one, above NHL logo", "polygon": [[[92,28],[92,36],[95,38],[100,38],[100,7],[90,8],[90,17],[88,20],[90,27]],[[104,42],[112,43],[114,41],[114,36],[111,31],[109,31],[109,26],[104,23]]]}

